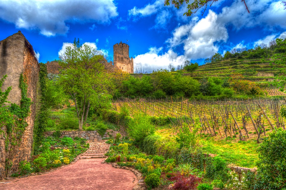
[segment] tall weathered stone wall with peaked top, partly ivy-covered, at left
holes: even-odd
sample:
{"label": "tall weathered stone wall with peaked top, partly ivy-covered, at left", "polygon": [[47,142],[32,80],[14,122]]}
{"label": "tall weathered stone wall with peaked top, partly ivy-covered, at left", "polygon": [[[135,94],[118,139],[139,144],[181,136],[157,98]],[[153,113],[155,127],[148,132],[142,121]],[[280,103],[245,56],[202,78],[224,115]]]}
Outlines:
{"label": "tall weathered stone wall with peaked top, partly ivy-covered, at left", "polygon": [[[21,141],[18,145],[9,144],[8,151],[5,149],[6,126],[0,133],[0,180],[15,173],[20,161],[31,158],[33,144],[33,127],[36,114],[37,85],[40,67],[35,57],[31,44],[21,32],[9,36],[0,42],[0,75],[8,75],[3,83],[2,90],[12,86],[12,90],[7,98],[11,103],[20,105],[21,89],[19,88],[20,74],[23,73],[24,81],[27,83],[27,94],[33,102],[31,104],[30,115],[26,118],[26,127]],[[5,170],[6,164],[11,164],[9,171]]]}

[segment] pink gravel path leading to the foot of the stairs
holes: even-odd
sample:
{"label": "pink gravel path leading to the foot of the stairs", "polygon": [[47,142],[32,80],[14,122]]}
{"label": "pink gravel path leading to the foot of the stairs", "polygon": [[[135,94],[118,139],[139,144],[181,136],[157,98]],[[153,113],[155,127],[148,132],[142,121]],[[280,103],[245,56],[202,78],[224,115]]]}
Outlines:
{"label": "pink gravel path leading to the foot of the stairs", "polygon": [[133,172],[102,164],[104,159],[83,159],[48,174],[6,180],[1,190],[131,190],[138,182]]}

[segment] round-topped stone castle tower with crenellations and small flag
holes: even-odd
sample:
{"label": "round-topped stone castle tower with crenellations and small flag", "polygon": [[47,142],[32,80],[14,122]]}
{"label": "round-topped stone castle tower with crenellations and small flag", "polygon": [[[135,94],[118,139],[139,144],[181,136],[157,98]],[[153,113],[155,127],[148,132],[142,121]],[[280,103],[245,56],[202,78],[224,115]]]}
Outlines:
{"label": "round-topped stone castle tower with crenellations and small flag", "polygon": [[133,73],[133,58],[129,58],[129,46],[126,43],[116,43],[113,46],[113,63],[118,69]]}

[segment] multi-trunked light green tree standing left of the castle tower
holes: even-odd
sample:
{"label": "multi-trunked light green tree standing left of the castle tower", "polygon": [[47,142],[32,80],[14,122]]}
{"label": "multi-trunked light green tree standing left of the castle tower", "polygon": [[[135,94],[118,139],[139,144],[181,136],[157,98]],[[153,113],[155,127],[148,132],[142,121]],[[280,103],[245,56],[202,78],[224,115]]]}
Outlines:
{"label": "multi-trunked light green tree standing left of the castle tower", "polygon": [[76,107],[79,130],[82,130],[91,107],[107,106],[110,95],[107,93],[108,74],[104,70],[102,52],[74,40],[73,46],[66,47],[60,55],[60,85],[73,99]]}

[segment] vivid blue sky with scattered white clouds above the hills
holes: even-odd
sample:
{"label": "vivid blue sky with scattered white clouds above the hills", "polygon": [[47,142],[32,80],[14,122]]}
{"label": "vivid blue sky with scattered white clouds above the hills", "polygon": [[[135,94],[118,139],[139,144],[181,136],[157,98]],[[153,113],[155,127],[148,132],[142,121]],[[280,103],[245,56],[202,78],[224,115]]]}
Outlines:
{"label": "vivid blue sky with scattered white clouds above the hills", "polygon": [[1,0],[0,40],[18,32],[32,44],[38,61],[58,59],[74,38],[113,56],[113,45],[130,46],[134,70],[203,63],[217,52],[253,48],[286,38],[286,10],[280,1],[218,0],[203,16],[190,17],[164,0]]}

